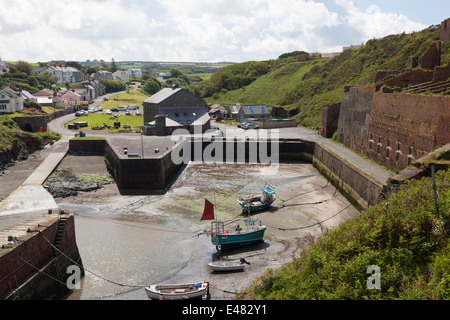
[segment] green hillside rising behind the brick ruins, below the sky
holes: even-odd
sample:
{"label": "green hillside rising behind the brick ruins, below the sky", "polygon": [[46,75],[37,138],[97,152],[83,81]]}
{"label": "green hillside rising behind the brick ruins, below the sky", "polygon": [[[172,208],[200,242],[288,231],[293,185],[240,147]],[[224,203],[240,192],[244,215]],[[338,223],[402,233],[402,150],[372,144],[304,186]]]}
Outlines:
{"label": "green hillside rising behind the brick ruins, below the sky", "polygon": [[[298,108],[297,122],[317,129],[321,108],[340,102],[345,85],[373,85],[377,71],[402,70],[408,57],[420,58],[436,40],[439,28],[430,28],[373,39],[330,60],[280,58],[236,64],[216,72],[199,88],[209,104],[240,102]],[[442,64],[448,62],[449,42],[442,44]]]}

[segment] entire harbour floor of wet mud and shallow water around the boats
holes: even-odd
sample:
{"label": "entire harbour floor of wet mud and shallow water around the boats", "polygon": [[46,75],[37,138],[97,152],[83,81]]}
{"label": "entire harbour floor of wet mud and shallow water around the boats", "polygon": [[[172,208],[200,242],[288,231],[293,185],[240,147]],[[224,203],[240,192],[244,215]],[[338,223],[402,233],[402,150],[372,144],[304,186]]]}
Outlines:
{"label": "entire harbour floor of wet mud and shallow water around the boats", "polygon": [[[67,156],[58,169],[107,174],[103,157]],[[147,299],[143,286],[156,282],[209,281],[211,299],[232,299],[267,269],[277,269],[357,210],[308,163],[280,164],[274,175],[264,165],[190,163],[160,195],[121,194],[114,183],[57,198],[75,214],[77,243],[86,276],[69,299]],[[236,199],[273,187],[277,200],[253,214],[266,225],[265,242],[218,253],[200,221],[205,199],[220,220],[242,215]],[[123,193],[123,192],[122,192]],[[323,223],[321,223],[323,221]],[[215,260],[245,258],[244,272],[213,273]]]}

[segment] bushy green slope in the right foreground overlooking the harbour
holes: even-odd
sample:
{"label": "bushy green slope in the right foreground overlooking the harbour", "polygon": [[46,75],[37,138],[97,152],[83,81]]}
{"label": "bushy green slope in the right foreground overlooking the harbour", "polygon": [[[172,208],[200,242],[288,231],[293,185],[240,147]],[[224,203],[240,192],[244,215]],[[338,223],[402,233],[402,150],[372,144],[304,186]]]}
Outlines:
{"label": "bushy green slope in the right foreground overlooking the harbour", "polygon": [[[293,262],[268,270],[238,298],[268,300],[450,299],[450,172],[410,181],[385,204],[329,231]],[[369,289],[369,266],[380,289]],[[374,282],[370,280],[371,284]]]}

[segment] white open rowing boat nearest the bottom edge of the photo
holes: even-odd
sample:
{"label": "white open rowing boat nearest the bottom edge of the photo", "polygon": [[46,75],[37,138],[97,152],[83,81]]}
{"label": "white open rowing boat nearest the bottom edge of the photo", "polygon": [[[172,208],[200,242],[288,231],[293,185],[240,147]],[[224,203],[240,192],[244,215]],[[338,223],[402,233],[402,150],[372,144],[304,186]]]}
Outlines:
{"label": "white open rowing boat nearest the bottom edge of the photo", "polygon": [[209,282],[185,284],[153,284],[145,287],[152,300],[209,299]]}

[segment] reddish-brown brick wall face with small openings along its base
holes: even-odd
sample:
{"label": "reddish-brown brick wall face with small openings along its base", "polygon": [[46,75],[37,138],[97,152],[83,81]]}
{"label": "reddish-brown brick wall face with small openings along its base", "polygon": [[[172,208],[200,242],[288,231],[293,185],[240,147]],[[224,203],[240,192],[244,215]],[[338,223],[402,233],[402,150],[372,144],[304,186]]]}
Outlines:
{"label": "reddish-brown brick wall face with small openings along its base", "polygon": [[449,143],[449,123],[447,97],[376,93],[367,137],[354,136],[350,147],[391,170],[402,170]]}

